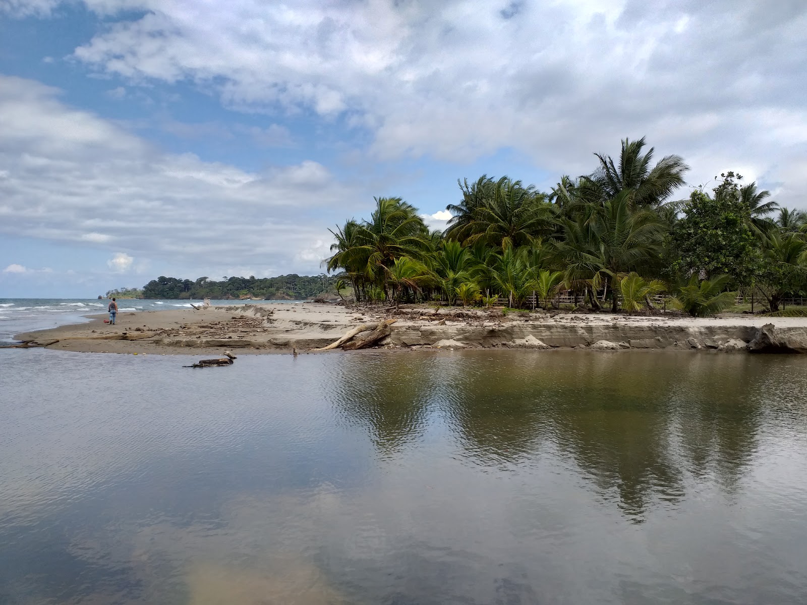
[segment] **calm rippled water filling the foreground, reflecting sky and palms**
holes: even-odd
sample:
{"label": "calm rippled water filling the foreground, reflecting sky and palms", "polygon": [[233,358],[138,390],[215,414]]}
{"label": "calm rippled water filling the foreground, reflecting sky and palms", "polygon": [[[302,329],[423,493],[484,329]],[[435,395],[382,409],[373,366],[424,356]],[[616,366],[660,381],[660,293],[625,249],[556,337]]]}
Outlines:
{"label": "calm rippled water filling the foreground, reflecting sky and palms", "polygon": [[0,603],[803,603],[807,359],[0,350]]}

